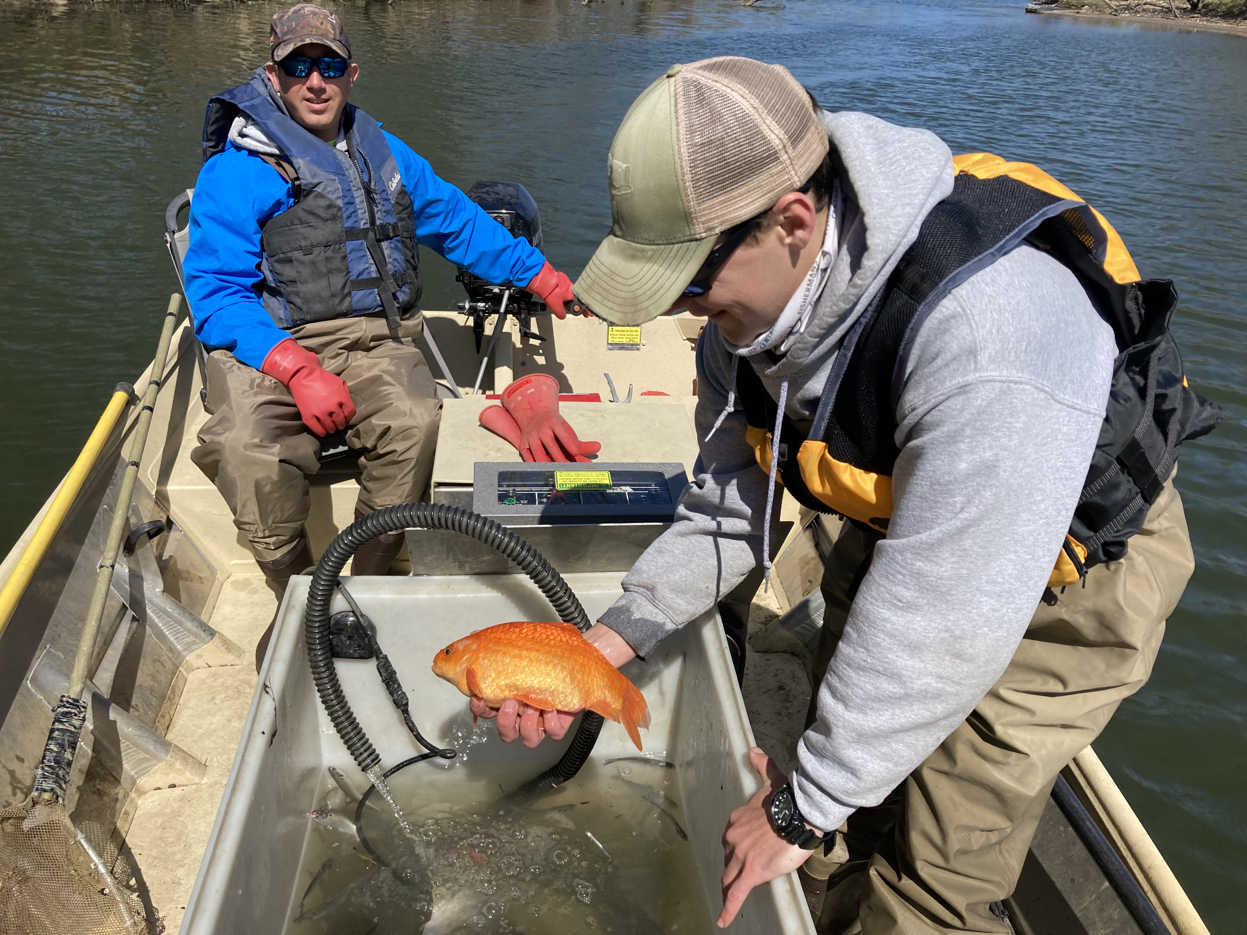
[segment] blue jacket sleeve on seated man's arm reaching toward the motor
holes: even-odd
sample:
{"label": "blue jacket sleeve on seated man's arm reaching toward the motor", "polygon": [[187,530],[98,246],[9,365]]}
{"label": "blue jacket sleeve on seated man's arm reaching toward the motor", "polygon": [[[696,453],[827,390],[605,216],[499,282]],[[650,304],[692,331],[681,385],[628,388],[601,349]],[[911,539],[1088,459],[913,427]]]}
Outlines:
{"label": "blue jacket sleeve on seated man's arm reaching toward the motor", "polygon": [[520,287],[532,282],[545,266],[541,251],[522,237],[513,237],[397,136],[387,132],[385,138],[412,196],[421,244],[485,282]]}

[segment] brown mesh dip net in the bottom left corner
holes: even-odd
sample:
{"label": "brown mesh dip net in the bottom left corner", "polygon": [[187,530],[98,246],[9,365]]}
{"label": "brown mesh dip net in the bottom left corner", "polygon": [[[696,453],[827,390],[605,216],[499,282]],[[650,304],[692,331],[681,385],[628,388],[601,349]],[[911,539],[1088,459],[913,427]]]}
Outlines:
{"label": "brown mesh dip net in the bottom left corner", "polygon": [[0,935],[147,935],[118,876],[133,874],[116,848],[80,834],[51,797],[0,809]]}

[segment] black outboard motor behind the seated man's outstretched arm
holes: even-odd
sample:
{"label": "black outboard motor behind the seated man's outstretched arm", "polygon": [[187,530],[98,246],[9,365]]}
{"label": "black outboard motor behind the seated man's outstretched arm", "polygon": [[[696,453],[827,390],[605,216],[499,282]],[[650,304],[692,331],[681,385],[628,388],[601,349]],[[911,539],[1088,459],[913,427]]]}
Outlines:
{"label": "black outboard motor behind the seated man's outstretched arm", "polygon": [[[519,182],[476,182],[466,192],[468,197],[479,204],[486,214],[511,232],[513,237],[522,237],[537,249],[541,249],[541,214],[532,196]],[[485,319],[503,310],[503,295],[508,290],[506,314],[515,315],[520,322],[520,334],[534,340],[545,340],[531,329],[532,315],[549,314],[545,303],[534,298],[525,289],[511,285],[488,283],[479,276],[460,269],[455,279],[463,283],[468,300],[459,303],[465,315],[473,317],[473,333],[476,335],[476,353],[480,353],[480,340],[485,334]]]}

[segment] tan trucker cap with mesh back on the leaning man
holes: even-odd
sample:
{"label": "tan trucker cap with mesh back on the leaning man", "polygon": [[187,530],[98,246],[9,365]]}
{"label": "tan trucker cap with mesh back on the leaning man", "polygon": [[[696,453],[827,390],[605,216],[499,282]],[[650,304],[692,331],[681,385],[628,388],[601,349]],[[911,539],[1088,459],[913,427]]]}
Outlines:
{"label": "tan trucker cap with mesh back on the leaning man", "polygon": [[718,234],[801,188],[827,155],[809,95],[781,65],[672,65],[624,116],[607,158],[611,233],[576,297],[615,324],[671,308]]}

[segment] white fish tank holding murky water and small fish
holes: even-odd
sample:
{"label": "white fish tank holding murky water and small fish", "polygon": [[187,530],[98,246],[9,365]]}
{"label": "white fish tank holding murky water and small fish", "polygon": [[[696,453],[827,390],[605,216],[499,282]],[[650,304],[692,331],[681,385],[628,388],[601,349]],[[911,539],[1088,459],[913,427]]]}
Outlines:
{"label": "white fish tank holding murky water and small fish", "polygon": [[[621,578],[565,576],[591,620],[620,595]],[[575,731],[532,750],[505,744],[491,722],[473,729],[468,699],[430,666],[473,630],[556,620],[546,598],[522,575],[344,578],[416,724],[458,750],[390,778],[400,823],[375,792],[359,805],[369,780],[317,697],[303,642],[309,581],[293,578],[282,605],[186,935],[718,931],[723,828],[759,779],[717,615],[624,668],[650,707],[641,752],[607,721],[574,779],[511,802],[506,793],[552,765]],[[384,769],[424,752],[372,659],[337,668]],[[796,878],[757,888],[727,931],[813,935]]]}

